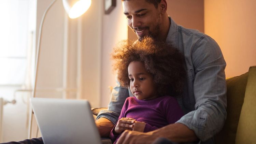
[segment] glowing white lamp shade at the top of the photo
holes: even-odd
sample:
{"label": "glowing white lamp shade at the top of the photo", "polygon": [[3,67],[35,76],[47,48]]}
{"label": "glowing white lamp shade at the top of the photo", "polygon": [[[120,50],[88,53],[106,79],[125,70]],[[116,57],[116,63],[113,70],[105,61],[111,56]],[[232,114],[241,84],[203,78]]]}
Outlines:
{"label": "glowing white lamp shade at the top of the photo", "polygon": [[62,0],[62,3],[69,17],[77,18],[89,9],[91,0]]}

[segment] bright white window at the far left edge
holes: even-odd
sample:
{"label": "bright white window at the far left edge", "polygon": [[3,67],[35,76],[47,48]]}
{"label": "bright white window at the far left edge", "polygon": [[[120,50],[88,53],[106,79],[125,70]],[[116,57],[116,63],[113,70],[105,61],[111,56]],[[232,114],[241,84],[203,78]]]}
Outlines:
{"label": "bright white window at the far left edge", "polygon": [[[0,1],[0,85],[22,85],[31,70],[35,0]],[[29,61],[28,61],[29,60]]]}

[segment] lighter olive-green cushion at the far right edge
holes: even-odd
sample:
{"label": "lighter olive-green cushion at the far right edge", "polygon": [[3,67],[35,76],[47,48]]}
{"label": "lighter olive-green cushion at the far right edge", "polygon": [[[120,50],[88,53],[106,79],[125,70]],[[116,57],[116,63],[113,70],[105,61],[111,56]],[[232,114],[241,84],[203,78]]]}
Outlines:
{"label": "lighter olive-green cushion at the far right edge", "polygon": [[249,69],[236,144],[256,144],[256,66]]}

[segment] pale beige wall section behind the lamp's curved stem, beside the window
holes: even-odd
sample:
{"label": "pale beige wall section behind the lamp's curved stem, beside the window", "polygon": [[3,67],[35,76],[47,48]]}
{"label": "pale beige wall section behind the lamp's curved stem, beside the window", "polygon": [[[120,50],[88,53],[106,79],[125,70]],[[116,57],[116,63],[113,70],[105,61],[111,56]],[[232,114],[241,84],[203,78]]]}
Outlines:
{"label": "pale beige wall section behind the lamp's curved stem, beside the window", "polygon": [[[37,40],[43,13],[51,2],[52,0],[37,2]],[[57,0],[49,9],[42,28],[36,97],[62,97],[62,91],[55,89],[62,88],[63,82],[64,20],[62,1]]]}

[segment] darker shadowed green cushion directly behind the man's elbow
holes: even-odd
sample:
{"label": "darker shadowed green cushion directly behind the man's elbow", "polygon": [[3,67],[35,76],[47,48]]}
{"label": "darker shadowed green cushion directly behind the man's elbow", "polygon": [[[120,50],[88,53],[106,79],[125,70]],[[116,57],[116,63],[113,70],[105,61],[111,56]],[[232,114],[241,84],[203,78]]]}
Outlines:
{"label": "darker shadowed green cushion directly behind the man's elbow", "polygon": [[223,129],[215,136],[216,144],[234,144],[244,101],[248,72],[227,79],[227,119]]}

